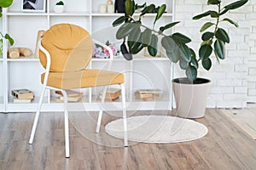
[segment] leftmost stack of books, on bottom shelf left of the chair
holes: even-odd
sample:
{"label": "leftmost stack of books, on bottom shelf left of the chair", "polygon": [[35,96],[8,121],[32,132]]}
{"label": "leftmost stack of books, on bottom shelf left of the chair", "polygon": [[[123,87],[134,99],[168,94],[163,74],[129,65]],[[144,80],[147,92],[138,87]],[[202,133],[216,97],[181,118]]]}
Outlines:
{"label": "leftmost stack of books, on bottom shelf left of the chair", "polygon": [[28,89],[16,89],[11,92],[14,96],[14,103],[31,103],[34,99],[34,93]]}

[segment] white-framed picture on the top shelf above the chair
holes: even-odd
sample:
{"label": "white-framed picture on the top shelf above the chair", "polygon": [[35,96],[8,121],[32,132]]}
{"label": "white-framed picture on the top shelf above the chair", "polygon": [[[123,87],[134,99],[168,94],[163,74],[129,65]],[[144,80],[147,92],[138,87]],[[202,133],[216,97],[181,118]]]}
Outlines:
{"label": "white-framed picture on the top shelf above the chair", "polygon": [[45,12],[46,0],[23,0],[22,10],[25,12]]}

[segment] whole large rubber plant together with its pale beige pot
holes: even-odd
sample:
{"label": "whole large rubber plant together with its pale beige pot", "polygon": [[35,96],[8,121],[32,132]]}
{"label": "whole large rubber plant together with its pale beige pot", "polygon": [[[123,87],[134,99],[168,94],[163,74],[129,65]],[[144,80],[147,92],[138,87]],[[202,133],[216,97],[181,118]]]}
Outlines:
{"label": "whole large rubber plant together with its pale beige pot", "polygon": [[[172,26],[179,22],[167,23],[156,29],[155,23],[160,20],[166,11],[166,4],[157,8],[153,20],[153,28],[143,25],[142,17],[155,7],[154,4],[139,6],[134,0],[125,1],[125,15],[113,21],[113,26],[119,26],[116,32],[117,39],[123,39],[121,53],[125,59],[132,59],[132,54],[137,54],[143,48],[147,48],[148,54],[155,56],[159,51],[159,42],[164,48],[164,53],[171,62],[177,63],[185,71],[186,77],[172,80],[174,95],[177,104],[177,116],[199,118],[204,116],[207,105],[207,93],[210,80],[197,77],[199,65],[209,71],[212,67],[212,52],[215,59],[220,62],[225,59],[225,44],[230,43],[227,31],[220,26],[221,22],[228,22],[233,26],[237,23],[225,14],[230,10],[240,8],[247,0],[239,0],[235,3],[222,6],[221,0],[207,0],[207,5],[215,6],[216,10],[208,10],[193,17],[193,20],[201,20],[210,17],[215,21],[207,21],[201,26],[201,44],[198,53],[189,48],[191,39],[179,32],[168,33]],[[133,17],[135,10],[143,8],[139,17]],[[211,31],[209,31],[212,29]],[[178,91],[177,91],[178,90]],[[184,96],[183,96],[184,95]]]}

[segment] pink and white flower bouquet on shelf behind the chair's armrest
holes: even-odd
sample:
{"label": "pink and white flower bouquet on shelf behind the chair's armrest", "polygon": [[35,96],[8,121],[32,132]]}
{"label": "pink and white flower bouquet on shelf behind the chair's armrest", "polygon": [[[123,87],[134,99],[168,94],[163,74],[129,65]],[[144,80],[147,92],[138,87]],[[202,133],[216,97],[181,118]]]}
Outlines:
{"label": "pink and white flower bouquet on shelf behind the chair's armrest", "polygon": [[[105,43],[109,48],[113,51],[113,56],[117,56],[119,54],[119,50],[115,48],[113,44],[110,44],[109,41]],[[96,44],[96,48],[94,48],[94,52],[92,57],[98,58],[98,59],[108,59],[110,56],[108,49],[102,48],[102,46],[99,46]]]}

